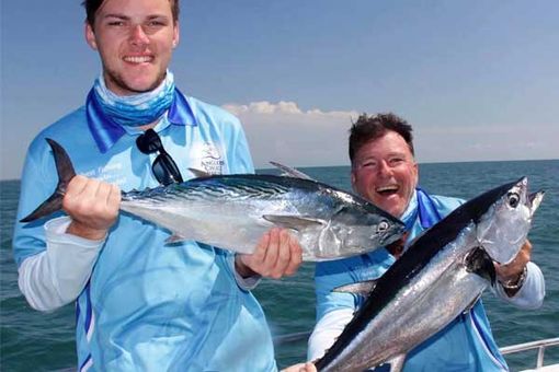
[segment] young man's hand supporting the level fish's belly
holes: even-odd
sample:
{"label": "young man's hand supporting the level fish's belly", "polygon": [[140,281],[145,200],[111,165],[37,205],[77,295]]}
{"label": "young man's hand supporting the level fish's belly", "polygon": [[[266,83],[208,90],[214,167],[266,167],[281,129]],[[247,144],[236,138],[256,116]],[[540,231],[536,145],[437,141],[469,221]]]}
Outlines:
{"label": "young man's hand supporting the level fish's belly", "polygon": [[296,239],[285,229],[274,228],[266,232],[250,255],[235,257],[237,272],[243,278],[259,274],[280,279],[294,275],[303,261],[303,251]]}

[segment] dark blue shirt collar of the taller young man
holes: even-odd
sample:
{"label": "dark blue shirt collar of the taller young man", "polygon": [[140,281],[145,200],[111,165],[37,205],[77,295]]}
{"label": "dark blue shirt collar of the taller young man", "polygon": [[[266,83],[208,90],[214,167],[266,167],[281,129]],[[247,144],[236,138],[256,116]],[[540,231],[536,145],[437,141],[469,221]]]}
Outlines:
{"label": "dark blue shirt collar of the taller young man", "polygon": [[[101,153],[107,152],[126,133],[119,124],[103,113],[93,90],[88,94],[85,113],[89,129]],[[176,88],[171,107],[167,113],[167,119],[173,125],[196,125],[196,118],[189,101]]]}

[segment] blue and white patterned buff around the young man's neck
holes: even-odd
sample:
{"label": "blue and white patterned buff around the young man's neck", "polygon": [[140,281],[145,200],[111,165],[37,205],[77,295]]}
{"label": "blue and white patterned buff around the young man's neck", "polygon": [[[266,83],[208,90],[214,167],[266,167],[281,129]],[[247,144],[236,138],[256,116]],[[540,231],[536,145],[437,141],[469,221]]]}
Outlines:
{"label": "blue and white patterned buff around the young man's neck", "polygon": [[105,115],[124,127],[141,127],[159,119],[174,97],[174,77],[167,70],[163,82],[151,92],[119,96],[111,92],[103,75],[93,85],[96,102]]}

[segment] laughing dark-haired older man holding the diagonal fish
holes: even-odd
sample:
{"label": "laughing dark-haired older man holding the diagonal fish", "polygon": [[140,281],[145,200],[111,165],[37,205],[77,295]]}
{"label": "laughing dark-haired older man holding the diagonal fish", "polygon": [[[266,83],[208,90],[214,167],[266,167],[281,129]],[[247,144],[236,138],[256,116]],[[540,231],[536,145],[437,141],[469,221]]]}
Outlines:
{"label": "laughing dark-haired older man holding the diagonal fish", "polygon": [[[412,128],[393,114],[362,115],[352,126],[350,159],[353,189],[375,205],[400,218],[409,229],[408,242],[450,213],[464,201],[427,195],[418,186]],[[430,204],[430,216],[418,212]],[[544,277],[529,261],[532,245],[526,242],[516,258],[497,266],[500,298],[520,307],[540,306]],[[375,251],[360,257],[319,263],[316,269],[317,325],[309,339],[308,359],[320,358],[343,330],[363,299],[332,292],[355,280],[379,278],[401,252]],[[495,264],[497,265],[497,264]],[[481,301],[436,335],[408,353],[404,371],[502,371],[507,370],[493,340]]]}

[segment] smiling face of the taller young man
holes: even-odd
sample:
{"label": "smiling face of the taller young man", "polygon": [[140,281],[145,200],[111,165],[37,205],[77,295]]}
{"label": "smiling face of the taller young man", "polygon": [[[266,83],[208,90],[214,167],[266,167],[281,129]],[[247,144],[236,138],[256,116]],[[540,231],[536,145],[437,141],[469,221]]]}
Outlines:
{"label": "smiling face of the taller young man", "polygon": [[148,92],[164,79],[179,43],[170,0],[105,0],[88,44],[99,51],[106,86],[118,95]]}

